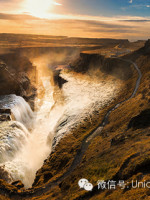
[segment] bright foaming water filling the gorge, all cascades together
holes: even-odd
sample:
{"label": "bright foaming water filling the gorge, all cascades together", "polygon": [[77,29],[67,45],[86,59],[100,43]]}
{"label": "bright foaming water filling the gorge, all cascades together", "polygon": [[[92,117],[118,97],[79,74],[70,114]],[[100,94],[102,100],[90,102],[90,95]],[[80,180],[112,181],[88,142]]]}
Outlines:
{"label": "bright foaming water filling the gorge, all cascades together", "polygon": [[[0,161],[0,168],[8,172],[8,182],[21,180],[25,188],[32,186],[37,170],[43,165],[43,161],[52,150],[54,137],[61,138],[72,127],[81,123],[87,115],[92,116],[94,110],[110,103],[119,93],[119,84],[118,82],[114,83],[113,79],[108,82],[105,78],[95,81],[87,75],[63,72],[62,77],[68,81],[61,89],[64,102],[63,104],[59,101],[55,102],[54,99],[56,100],[58,97],[54,94],[52,72],[47,69],[43,73],[40,71],[40,69],[44,69],[44,66],[47,68],[45,63],[40,64],[37,61],[35,65],[39,66],[40,84],[37,87],[38,90],[41,90],[38,93],[41,92],[42,96],[42,98],[37,97],[36,99],[36,112],[33,114],[22,97],[17,97],[17,101],[10,101],[9,107],[6,106],[5,101],[3,103],[3,107],[10,108],[15,120],[19,121],[19,130],[21,129],[23,133],[26,132],[26,134],[18,134],[19,136],[24,135],[25,139],[22,141],[26,142],[20,145],[21,140],[19,136],[17,137],[17,132],[14,130],[16,135],[12,135],[10,132],[4,144],[9,143],[9,146],[12,146],[11,151],[14,153],[12,157],[8,156],[6,155],[7,148],[2,148],[4,150],[1,150],[3,159]],[[30,133],[23,124],[29,128]]]}

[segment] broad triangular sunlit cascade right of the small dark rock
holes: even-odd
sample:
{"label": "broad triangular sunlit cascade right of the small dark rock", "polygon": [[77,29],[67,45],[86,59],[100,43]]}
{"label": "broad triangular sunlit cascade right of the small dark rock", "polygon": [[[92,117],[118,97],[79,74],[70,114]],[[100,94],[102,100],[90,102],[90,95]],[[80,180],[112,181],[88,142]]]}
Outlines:
{"label": "broad triangular sunlit cascade right of the small dark rock", "polygon": [[65,71],[61,74],[68,82],[62,88],[65,108],[55,127],[57,141],[74,127],[83,124],[86,117],[91,119],[95,111],[110,104],[119,93],[122,84],[119,80],[97,73],[98,78],[92,73],[91,76]]}

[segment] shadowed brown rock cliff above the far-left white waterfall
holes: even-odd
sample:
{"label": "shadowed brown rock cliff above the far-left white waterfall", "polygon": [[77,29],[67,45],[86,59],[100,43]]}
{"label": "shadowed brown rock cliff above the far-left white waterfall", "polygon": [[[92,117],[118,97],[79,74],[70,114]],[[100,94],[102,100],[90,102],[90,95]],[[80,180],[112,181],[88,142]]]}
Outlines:
{"label": "shadowed brown rock cliff above the far-left white waterfall", "polygon": [[36,96],[36,67],[26,57],[0,55],[0,95],[24,97],[32,108]]}

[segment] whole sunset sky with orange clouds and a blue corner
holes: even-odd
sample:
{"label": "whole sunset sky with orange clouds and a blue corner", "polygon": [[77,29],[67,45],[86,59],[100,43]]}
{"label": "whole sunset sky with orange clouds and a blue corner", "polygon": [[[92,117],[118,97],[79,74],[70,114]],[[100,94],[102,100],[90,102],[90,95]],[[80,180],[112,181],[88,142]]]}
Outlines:
{"label": "whole sunset sky with orange clouds and a blue corner", "polygon": [[0,33],[150,38],[150,0],[0,0]]}

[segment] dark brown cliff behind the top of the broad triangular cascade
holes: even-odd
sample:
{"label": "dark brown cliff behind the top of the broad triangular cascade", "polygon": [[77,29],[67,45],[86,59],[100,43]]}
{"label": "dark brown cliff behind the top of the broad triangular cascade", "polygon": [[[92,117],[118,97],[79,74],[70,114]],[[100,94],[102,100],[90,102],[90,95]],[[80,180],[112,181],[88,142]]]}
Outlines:
{"label": "dark brown cliff behind the top of the broad triangular cascade", "polygon": [[121,80],[128,80],[132,77],[132,68],[127,61],[117,58],[105,58],[99,54],[84,54],[73,61],[70,68],[79,73],[87,73],[90,71],[100,70],[105,74],[109,74]]}

